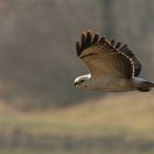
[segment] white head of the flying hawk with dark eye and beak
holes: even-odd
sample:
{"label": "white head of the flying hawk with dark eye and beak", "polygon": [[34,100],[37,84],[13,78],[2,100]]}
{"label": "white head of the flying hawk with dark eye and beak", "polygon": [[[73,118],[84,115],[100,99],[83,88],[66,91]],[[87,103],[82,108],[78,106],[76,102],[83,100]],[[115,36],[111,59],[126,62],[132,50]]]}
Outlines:
{"label": "white head of the flying hawk with dark eye and beak", "polygon": [[89,86],[89,80],[91,78],[91,75],[84,75],[84,76],[79,76],[75,79],[74,81],[74,86],[75,87],[80,87],[80,88],[88,88]]}

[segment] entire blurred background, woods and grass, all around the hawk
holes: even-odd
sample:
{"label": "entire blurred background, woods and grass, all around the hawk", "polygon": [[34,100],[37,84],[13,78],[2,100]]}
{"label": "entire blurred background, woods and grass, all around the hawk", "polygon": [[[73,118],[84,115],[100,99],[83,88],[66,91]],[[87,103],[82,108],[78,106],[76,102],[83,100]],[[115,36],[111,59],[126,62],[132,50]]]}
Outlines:
{"label": "entire blurred background, woods and grass, all around the hawk", "polygon": [[153,0],[0,0],[0,154],[153,154],[153,91],[73,87],[87,30],[129,44],[154,80],[153,18]]}

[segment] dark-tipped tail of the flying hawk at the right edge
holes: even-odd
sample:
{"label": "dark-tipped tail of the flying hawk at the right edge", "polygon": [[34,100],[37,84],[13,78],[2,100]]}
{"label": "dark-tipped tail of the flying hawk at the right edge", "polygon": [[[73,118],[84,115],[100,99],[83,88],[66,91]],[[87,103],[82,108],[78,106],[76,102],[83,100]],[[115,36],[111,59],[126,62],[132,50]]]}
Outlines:
{"label": "dark-tipped tail of the flying hawk at the right edge", "polygon": [[154,82],[142,78],[134,78],[134,86],[139,91],[147,92],[154,87]]}

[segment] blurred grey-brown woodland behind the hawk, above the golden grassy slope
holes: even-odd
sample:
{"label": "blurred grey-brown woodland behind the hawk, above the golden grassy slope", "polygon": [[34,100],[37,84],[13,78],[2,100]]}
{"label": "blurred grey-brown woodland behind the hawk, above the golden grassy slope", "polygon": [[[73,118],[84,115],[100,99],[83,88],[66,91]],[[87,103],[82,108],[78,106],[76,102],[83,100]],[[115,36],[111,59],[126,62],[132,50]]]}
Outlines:
{"label": "blurred grey-brown woodland behind the hawk, above the golden grassy slope", "polygon": [[88,29],[129,44],[143,75],[154,77],[153,6],[152,0],[0,0],[1,99],[42,108],[96,96],[73,87],[87,73],[75,41]]}

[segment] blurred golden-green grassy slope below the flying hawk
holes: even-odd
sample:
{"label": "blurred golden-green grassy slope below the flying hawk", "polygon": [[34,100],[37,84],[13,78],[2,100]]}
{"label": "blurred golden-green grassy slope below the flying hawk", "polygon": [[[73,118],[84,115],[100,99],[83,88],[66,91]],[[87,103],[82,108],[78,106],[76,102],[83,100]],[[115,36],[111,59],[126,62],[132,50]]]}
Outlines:
{"label": "blurred golden-green grassy slope below the flying hawk", "polygon": [[154,140],[154,97],[153,94],[109,95],[76,107],[42,112],[21,112],[1,105],[0,130],[11,133],[14,129],[35,135],[124,135]]}

